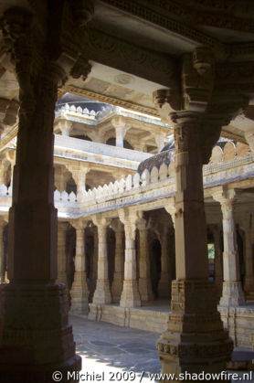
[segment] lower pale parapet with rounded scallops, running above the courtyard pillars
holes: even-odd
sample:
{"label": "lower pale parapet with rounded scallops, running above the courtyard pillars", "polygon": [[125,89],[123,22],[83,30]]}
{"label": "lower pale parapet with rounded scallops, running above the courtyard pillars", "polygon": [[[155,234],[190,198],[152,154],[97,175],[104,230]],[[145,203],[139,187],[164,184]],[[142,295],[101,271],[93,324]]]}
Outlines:
{"label": "lower pale parapet with rounded scallops, running above the courtyard pillars", "polygon": [[[204,166],[204,187],[223,185],[254,177],[254,154],[238,158],[218,165]],[[135,173],[108,185],[94,187],[76,195],[66,191],[55,190],[54,200],[58,207],[59,217],[81,217],[96,214],[101,211],[116,209],[132,204],[151,202],[175,194],[175,175],[172,166],[161,165],[153,167],[143,174]],[[12,191],[10,187],[0,186],[0,206],[11,204]],[[5,208],[2,208],[5,211]]]}

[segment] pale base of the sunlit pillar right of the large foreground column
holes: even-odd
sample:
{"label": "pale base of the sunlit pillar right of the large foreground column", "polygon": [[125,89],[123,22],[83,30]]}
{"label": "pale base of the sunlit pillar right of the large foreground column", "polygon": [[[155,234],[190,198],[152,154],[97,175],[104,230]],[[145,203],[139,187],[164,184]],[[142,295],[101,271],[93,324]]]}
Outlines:
{"label": "pale base of the sunlit pillar right of the large foreground column", "polygon": [[223,282],[220,306],[244,306],[246,304],[241,282]]}

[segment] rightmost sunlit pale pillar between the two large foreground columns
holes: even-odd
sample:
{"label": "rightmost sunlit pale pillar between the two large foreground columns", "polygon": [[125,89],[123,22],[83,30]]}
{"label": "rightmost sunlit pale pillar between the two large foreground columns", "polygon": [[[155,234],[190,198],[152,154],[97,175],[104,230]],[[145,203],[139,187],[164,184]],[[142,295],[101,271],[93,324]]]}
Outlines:
{"label": "rightmost sunlit pale pillar between the two large foreground columns", "polygon": [[125,233],[124,281],[120,306],[138,307],[141,306],[141,298],[137,282],[135,231],[139,216],[137,212],[130,213],[129,210],[120,210],[119,218],[124,225]]}

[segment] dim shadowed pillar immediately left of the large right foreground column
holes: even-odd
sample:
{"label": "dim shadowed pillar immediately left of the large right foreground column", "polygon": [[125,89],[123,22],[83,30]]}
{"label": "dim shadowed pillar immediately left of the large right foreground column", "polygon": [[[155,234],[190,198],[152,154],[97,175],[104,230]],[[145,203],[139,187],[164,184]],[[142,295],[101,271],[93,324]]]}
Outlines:
{"label": "dim shadowed pillar immediately left of the large right foreground column", "polygon": [[169,273],[169,228],[167,226],[164,227],[160,237],[162,246],[162,271],[158,286],[158,293],[159,298],[169,298],[171,296],[171,276]]}

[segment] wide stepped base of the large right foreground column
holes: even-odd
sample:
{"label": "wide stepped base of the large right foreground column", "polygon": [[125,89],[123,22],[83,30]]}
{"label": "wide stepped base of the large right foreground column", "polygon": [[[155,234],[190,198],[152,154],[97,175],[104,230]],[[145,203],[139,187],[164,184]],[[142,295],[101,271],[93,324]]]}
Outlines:
{"label": "wide stepped base of the large right foreground column", "polygon": [[223,329],[216,299],[213,282],[173,282],[168,329],[157,342],[163,373],[175,374],[176,378],[185,372],[226,369],[233,342]]}

